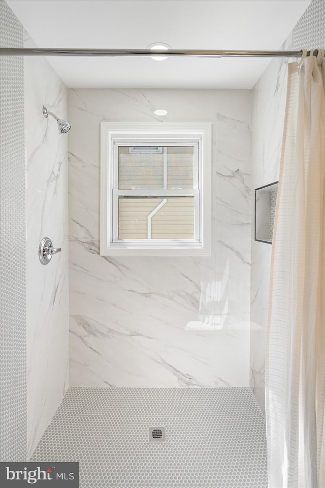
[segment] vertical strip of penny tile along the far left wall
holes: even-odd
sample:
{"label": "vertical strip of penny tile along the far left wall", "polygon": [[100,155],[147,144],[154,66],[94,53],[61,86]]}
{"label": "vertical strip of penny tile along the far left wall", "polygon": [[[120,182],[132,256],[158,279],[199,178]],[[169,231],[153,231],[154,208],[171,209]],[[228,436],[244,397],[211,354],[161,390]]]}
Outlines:
{"label": "vertical strip of penny tile along the far left wall", "polygon": [[[0,0],[0,44],[23,46],[23,27],[3,0]],[[22,57],[1,56],[0,63],[0,459],[25,461],[24,62]]]}

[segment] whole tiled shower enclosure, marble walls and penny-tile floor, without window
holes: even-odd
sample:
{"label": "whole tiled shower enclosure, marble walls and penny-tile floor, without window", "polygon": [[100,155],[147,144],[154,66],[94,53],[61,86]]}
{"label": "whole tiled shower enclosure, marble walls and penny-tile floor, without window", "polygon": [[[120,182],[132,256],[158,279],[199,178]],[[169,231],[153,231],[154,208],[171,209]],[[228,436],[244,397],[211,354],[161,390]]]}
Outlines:
{"label": "whole tiled shower enclosure, marble walls and penny-tile floor, without window", "polygon": [[[37,54],[0,7],[1,46]],[[323,17],[313,0],[281,51],[324,44]],[[267,487],[271,246],[251,195],[278,179],[286,58],[269,55],[252,91],[68,89],[44,56],[0,56],[1,461],[79,462],[83,487]],[[212,124],[211,256],[100,256],[100,124],[153,120]]]}

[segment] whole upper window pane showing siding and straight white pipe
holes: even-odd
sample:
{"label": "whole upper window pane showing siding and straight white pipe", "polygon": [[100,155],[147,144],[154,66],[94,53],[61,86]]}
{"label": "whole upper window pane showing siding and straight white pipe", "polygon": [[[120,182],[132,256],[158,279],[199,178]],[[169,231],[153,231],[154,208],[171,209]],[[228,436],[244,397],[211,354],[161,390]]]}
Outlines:
{"label": "whole upper window pane showing siding and straight white pipe", "polygon": [[118,188],[193,188],[193,146],[126,146],[118,148]]}

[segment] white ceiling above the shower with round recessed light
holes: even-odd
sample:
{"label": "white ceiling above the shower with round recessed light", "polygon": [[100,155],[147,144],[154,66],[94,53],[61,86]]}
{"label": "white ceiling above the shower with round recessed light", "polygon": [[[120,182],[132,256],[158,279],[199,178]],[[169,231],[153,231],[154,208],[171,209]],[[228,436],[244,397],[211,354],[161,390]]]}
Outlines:
{"label": "white ceiling above the shower with round recessed light", "polygon": [[[310,0],[7,0],[38,47],[274,50]],[[49,57],[69,87],[252,88],[268,58]]]}

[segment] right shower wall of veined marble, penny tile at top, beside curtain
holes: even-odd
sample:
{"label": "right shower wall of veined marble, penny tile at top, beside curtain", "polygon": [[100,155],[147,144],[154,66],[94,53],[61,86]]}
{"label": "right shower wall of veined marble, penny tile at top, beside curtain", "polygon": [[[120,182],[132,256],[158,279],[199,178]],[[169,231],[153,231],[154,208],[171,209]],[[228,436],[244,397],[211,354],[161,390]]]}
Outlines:
{"label": "right shower wall of veined marble, penny tile at top, beside curtain", "polygon": [[[313,0],[280,49],[325,46],[325,2]],[[273,59],[253,88],[252,195],[278,180],[286,101],[286,58]],[[254,241],[252,198],[250,387],[265,410],[265,350],[272,246]]]}

